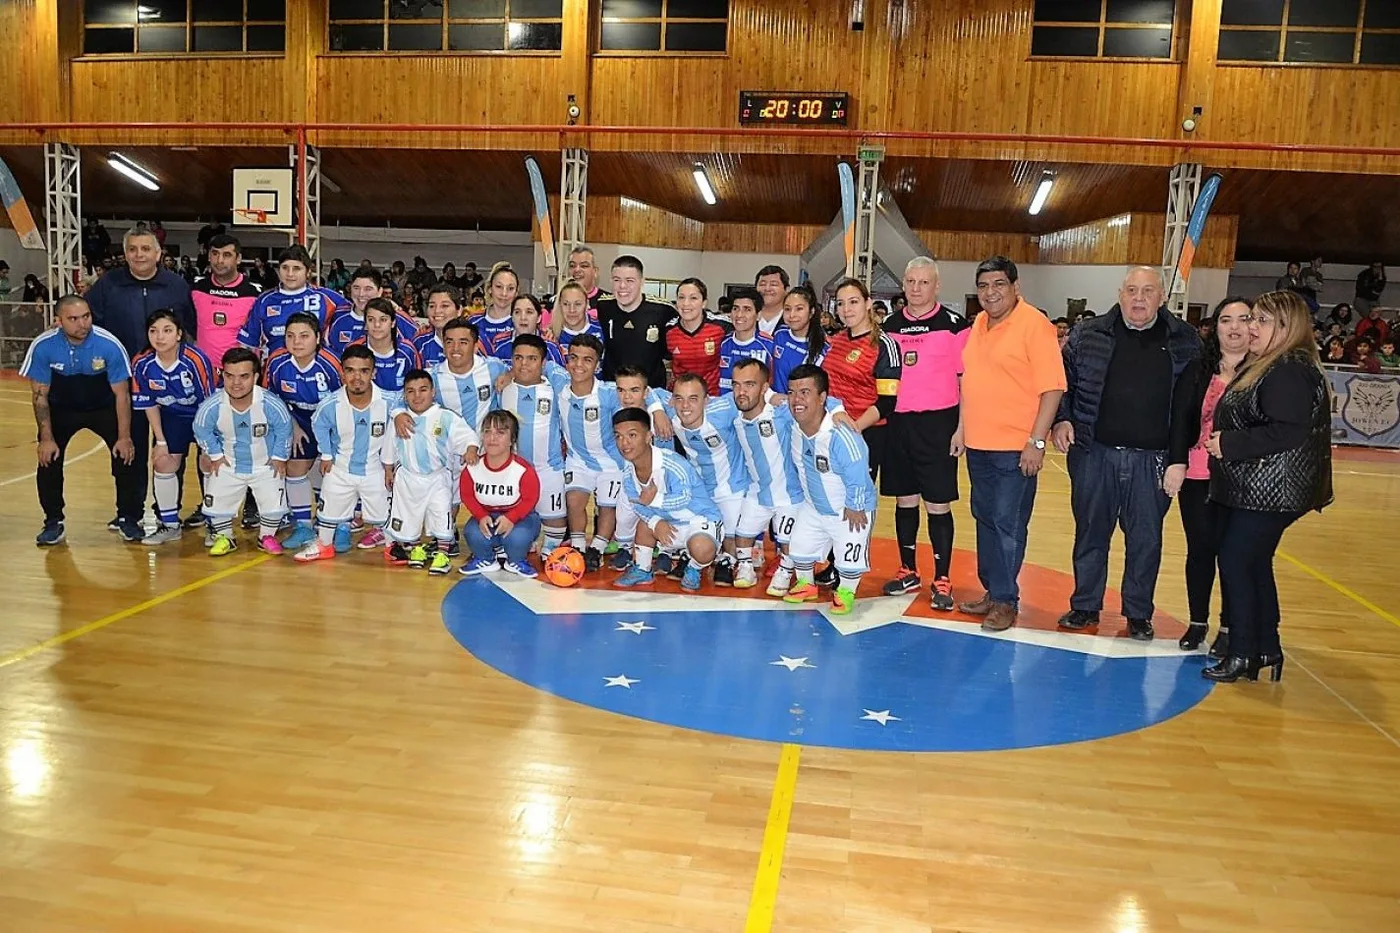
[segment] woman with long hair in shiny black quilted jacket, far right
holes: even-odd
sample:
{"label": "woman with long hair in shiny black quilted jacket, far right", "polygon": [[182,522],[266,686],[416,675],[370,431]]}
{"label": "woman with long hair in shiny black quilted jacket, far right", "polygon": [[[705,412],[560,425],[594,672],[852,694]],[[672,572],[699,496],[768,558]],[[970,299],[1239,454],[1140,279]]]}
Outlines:
{"label": "woman with long hair in shiny black quilted jacket, far right", "polygon": [[1229,684],[1284,674],[1274,552],[1288,525],[1331,502],[1331,405],[1308,305],[1291,291],[1254,303],[1250,360],[1215,408],[1211,499],[1221,506],[1221,591],[1229,657],[1205,668]]}

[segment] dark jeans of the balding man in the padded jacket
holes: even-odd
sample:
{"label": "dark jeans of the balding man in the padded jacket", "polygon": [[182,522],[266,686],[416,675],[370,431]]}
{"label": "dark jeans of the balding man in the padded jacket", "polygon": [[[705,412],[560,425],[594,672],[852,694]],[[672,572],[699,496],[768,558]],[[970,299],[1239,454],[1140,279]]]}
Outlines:
{"label": "dark jeans of the balding man in the padded jacket", "polygon": [[1109,544],[1123,528],[1123,615],[1151,619],[1162,566],[1162,520],[1172,500],[1162,492],[1166,454],[1103,444],[1070,448],[1074,511],[1074,595],[1070,608],[1098,612],[1109,583]]}

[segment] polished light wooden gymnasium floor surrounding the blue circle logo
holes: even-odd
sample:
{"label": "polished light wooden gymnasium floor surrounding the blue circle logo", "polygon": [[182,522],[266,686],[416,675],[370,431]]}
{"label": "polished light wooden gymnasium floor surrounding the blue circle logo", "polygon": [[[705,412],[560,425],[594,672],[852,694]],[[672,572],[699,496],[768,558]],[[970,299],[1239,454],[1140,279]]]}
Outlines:
{"label": "polished light wooden gymnasium floor surrounding the blue circle logo", "polygon": [[[29,424],[0,381],[6,933],[1400,929],[1389,457],[1338,462],[1338,504],[1285,539],[1281,685],[1096,741],[907,754],[559,699],[448,635],[455,574],[122,545],[90,436],[69,545],[39,551]],[[1053,459],[1029,560],[1067,572],[1070,534]],[[1176,618],[1182,553],[1173,513]],[[1008,709],[1121,699],[1065,689]]]}

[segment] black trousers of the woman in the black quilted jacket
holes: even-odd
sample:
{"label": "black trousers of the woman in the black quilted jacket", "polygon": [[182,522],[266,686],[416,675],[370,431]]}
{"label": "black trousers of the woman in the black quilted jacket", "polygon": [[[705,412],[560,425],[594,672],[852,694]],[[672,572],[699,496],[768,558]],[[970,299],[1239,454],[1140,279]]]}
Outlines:
{"label": "black trousers of the woman in the black quilted jacket", "polygon": [[1301,511],[1221,506],[1221,594],[1229,612],[1229,650],[1238,657],[1278,654],[1278,586],[1274,552]]}

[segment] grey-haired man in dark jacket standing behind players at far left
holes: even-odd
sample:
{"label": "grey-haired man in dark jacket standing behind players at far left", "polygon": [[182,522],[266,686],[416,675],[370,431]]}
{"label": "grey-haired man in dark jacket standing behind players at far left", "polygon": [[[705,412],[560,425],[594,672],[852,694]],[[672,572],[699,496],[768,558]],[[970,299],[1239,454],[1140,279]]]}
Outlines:
{"label": "grey-haired man in dark jacket standing behind players at far left", "polygon": [[[126,268],[112,269],[87,293],[92,324],[116,336],[129,357],[146,349],[146,315],[157,308],[172,308],[185,328],[185,338],[195,339],[195,305],[189,283],[178,273],[161,268],[161,244],[146,227],[134,227],[122,237]],[[130,402],[127,402],[130,403]],[[132,469],[144,476],[150,459],[151,431],[146,416],[133,413],[132,443],[136,458]],[[144,481],[143,481],[144,482]],[[108,524],[116,527],[116,520]]]}

